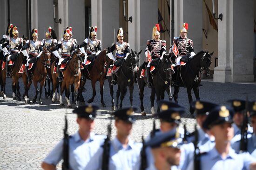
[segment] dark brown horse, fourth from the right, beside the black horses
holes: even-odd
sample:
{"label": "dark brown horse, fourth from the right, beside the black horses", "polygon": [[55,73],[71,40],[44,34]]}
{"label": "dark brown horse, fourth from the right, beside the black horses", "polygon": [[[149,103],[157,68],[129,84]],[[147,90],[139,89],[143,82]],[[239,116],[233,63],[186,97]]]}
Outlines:
{"label": "dark brown horse, fourth from the right, beside the black horses", "polygon": [[[106,68],[105,68],[105,63],[110,63],[110,58],[106,56],[107,49],[102,50],[97,56],[94,55],[94,63],[93,65],[89,66],[88,70],[83,69],[82,70],[82,78],[81,78],[81,85],[80,89],[83,89],[86,79],[91,80],[92,88],[93,88],[93,96],[87,101],[88,103],[91,103],[94,101],[94,97],[96,95],[96,90],[95,90],[95,83],[97,81],[100,82],[100,90],[101,90],[101,107],[106,107],[104,100],[103,100],[103,85],[105,82],[105,75],[106,75]],[[80,101],[84,102],[84,99],[81,94],[79,96]]]}

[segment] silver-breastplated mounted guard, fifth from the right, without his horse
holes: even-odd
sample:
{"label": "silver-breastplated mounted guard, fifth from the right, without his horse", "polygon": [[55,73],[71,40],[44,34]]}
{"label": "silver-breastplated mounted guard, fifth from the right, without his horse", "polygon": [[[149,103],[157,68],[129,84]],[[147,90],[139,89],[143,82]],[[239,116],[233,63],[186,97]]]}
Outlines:
{"label": "silver-breastplated mounted guard, fifth from the right, without his horse", "polygon": [[[73,50],[75,50],[75,44],[74,41],[70,40],[70,30],[66,29],[65,33],[63,35],[63,38],[58,42],[56,48],[54,49],[53,53],[58,59],[56,60],[57,64],[57,72],[59,76],[59,82],[63,81],[63,75],[60,72],[61,69],[61,62],[66,58],[70,57]],[[61,55],[59,54],[59,51],[61,52]]]}

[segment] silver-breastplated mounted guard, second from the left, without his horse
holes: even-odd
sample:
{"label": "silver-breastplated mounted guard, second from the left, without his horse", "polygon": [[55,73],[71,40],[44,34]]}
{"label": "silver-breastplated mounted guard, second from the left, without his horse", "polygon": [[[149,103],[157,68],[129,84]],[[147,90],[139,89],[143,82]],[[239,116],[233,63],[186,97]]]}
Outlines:
{"label": "silver-breastplated mounted guard, second from the left, without his horse", "polygon": [[[32,75],[32,67],[33,63],[29,62],[33,57],[40,57],[43,52],[42,42],[38,40],[38,31],[34,28],[30,34],[30,40],[27,40],[24,47],[21,49],[21,52],[25,57],[27,57],[26,63],[26,70],[27,70],[27,78],[28,82],[31,82],[31,75]],[[29,49],[29,54],[27,54],[27,49]],[[26,59],[26,58],[25,58]]]}

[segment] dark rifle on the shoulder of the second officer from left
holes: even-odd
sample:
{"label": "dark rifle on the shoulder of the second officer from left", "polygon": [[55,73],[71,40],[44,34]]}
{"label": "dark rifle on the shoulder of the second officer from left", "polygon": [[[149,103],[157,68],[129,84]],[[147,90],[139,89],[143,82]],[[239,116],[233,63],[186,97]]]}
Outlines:
{"label": "dark rifle on the shoulder of the second officer from left", "polygon": [[110,137],[111,137],[111,120],[110,120],[110,124],[108,124],[108,135],[103,145],[103,156],[102,156],[103,158],[102,158],[101,170],[108,170]]}

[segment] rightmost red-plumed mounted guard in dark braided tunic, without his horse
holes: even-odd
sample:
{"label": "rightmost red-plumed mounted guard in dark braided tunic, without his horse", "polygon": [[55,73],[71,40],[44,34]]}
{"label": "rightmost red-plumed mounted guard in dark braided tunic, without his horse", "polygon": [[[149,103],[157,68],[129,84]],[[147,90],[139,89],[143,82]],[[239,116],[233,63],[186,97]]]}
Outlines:
{"label": "rightmost red-plumed mounted guard in dark braided tunic, without his horse", "polygon": [[193,41],[189,38],[187,38],[188,30],[189,30],[189,25],[188,23],[184,23],[182,25],[182,29],[180,31],[181,35],[180,37],[175,37],[173,39],[173,44],[170,47],[169,52],[175,52],[175,50],[178,50],[178,55],[176,56],[177,58],[175,59],[175,65],[177,65],[177,72],[176,72],[176,86],[180,86],[181,84],[179,83],[179,74],[180,74],[180,69],[182,65],[185,65],[186,62],[188,62],[189,58],[192,58],[195,56],[194,48],[193,48]]}

